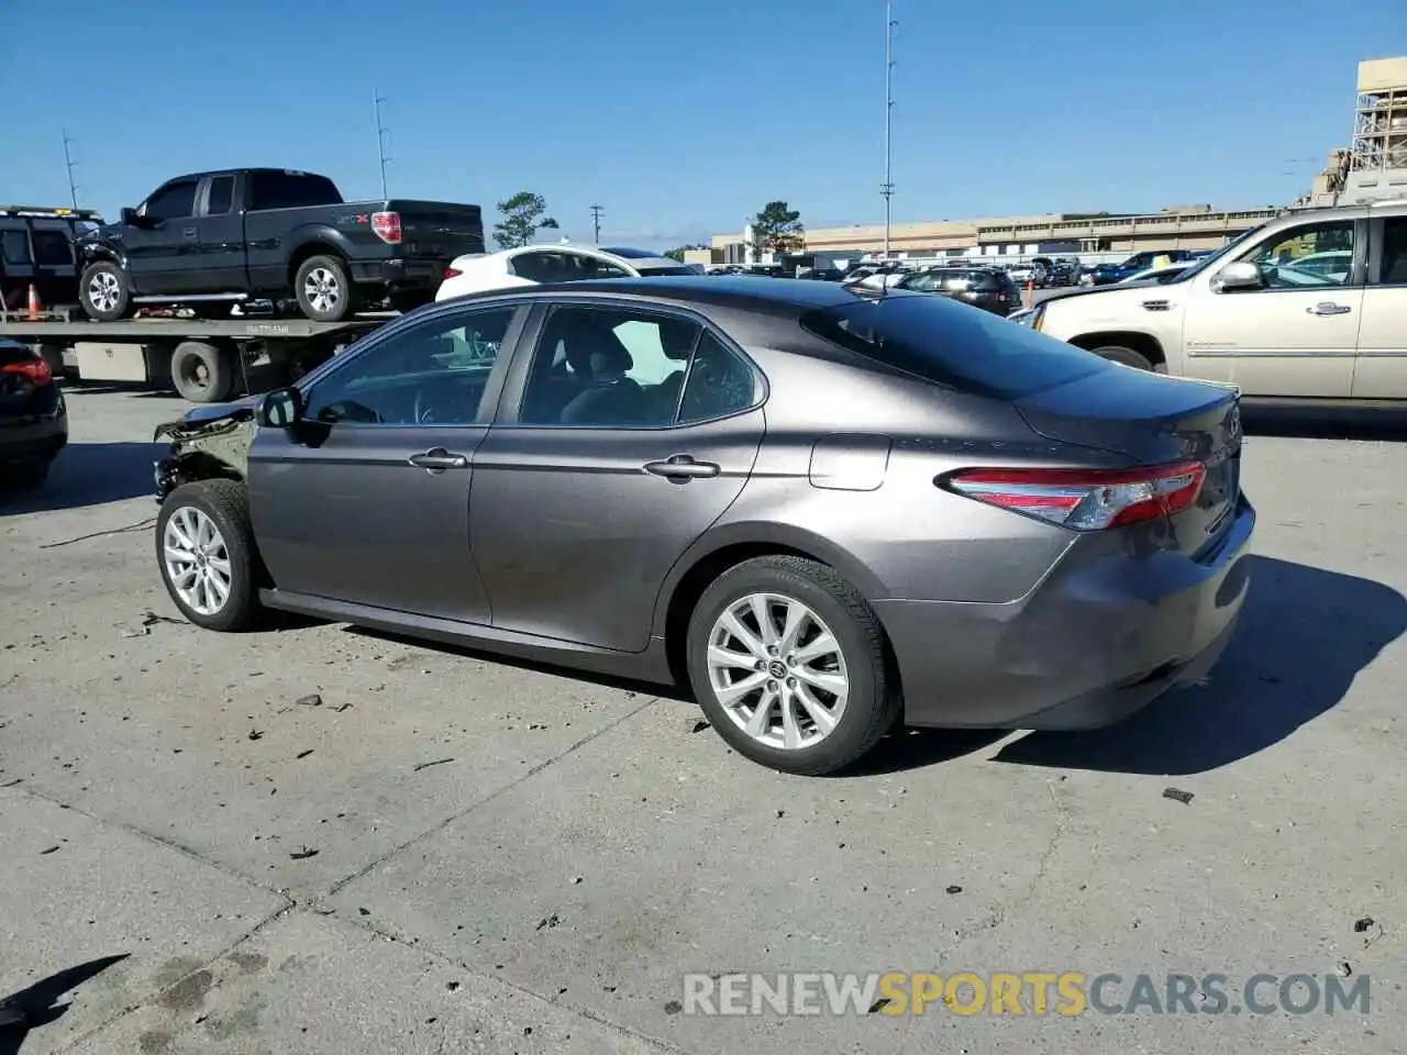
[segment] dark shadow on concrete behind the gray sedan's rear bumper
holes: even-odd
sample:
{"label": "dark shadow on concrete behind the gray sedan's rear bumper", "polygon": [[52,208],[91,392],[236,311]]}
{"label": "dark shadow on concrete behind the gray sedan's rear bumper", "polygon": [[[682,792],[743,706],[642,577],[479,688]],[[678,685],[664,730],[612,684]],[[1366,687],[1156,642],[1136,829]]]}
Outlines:
{"label": "dark shadow on concrete behind the gray sedan's rear bumper", "polygon": [[1030,733],[993,761],[1186,775],[1252,755],[1335,706],[1407,630],[1407,598],[1355,575],[1251,557],[1251,592],[1202,685],[1085,733]]}

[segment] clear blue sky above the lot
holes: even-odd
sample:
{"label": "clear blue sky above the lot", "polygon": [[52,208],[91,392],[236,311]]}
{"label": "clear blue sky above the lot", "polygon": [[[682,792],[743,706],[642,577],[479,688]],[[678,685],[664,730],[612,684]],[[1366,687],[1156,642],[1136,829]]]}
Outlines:
{"label": "clear blue sky above the lot", "polygon": [[[895,6],[895,221],[1286,201],[1407,53],[1407,0]],[[68,200],[62,125],[108,215],[238,165],[374,197],[374,89],[393,196],[647,246],[884,215],[884,0],[0,0],[0,198]]]}

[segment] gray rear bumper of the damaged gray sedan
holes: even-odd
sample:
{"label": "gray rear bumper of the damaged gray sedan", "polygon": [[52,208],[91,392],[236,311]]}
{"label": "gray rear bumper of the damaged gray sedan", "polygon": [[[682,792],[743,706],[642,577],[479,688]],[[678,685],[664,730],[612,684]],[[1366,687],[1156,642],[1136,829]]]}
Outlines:
{"label": "gray rear bumper of the damaged gray sedan", "polygon": [[[1005,605],[877,601],[913,726],[1097,729],[1197,681],[1235,630],[1255,511],[1213,554],[1062,558]],[[1076,547],[1078,549],[1078,547]]]}

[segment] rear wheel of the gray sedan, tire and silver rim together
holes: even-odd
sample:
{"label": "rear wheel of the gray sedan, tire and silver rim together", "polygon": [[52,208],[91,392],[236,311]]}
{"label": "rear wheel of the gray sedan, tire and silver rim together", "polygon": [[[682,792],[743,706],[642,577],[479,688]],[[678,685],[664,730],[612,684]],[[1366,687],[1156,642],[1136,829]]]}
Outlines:
{"label": "rear wheel of the gray sedan, tire and silver rim together", "polygon": [[902,710],[874,610],[833,568],[802,557],[743,561],[704,591],[688,672],[719,736],[785,772],[850,765]]}

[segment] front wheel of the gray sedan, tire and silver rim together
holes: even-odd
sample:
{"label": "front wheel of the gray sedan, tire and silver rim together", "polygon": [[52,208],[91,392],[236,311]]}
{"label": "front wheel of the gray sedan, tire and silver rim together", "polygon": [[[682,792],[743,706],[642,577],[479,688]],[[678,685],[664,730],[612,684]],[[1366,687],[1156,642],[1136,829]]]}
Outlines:
{"label": "front wheel of the gray sedan, tire and silver rim together", "polygon": [[156,519],[156,563],[166,592],[196,626],[253,626],[262,608],[245,485],[200,480],[172,491]]}

